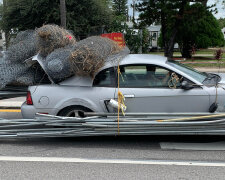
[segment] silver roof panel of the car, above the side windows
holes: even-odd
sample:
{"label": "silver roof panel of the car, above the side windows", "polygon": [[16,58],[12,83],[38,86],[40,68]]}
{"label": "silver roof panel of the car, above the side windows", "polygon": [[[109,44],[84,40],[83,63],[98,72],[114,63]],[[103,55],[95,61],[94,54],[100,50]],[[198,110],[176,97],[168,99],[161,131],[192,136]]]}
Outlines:
{"label": "silver roof panel of the car, above the side windows", "polygon": [[[128,65],[128,64],[155,64],[155,65],[163,65],[167,61],[167,58],[160,55],[151,55],[151,54],[129,54],[125,56],[123,59],[119,61],[120,65]],[[117,66],[118,64],[107,62],[104,67],[109,68],[113,66]]]}

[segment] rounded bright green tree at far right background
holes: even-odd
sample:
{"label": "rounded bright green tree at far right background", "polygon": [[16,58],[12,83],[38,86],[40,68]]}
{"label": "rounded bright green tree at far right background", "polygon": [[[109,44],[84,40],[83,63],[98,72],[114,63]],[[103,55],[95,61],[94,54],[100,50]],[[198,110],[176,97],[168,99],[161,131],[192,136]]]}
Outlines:
{"label": "rounded bright green tree at far right background", "polygon": [[224,45],[219,23],[209,10],[197,3],[186,7],[186,11],[192,11],[192,14],[184,16],[176,37],[183,57],[191,57],[192,47],[208,48]]}

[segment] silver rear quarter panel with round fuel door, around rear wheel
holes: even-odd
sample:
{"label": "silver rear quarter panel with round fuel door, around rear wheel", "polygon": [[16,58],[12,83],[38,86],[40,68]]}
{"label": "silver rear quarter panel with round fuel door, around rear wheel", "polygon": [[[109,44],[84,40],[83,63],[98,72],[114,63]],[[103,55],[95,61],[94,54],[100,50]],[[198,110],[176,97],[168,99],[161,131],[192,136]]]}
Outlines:
{"label": "silver rear quarter panel with round fuel door, around rear wheel", "polygon": [[[37,109],[57,109],[62,110],[71,105],[87,107],[95,112],[105,112],[106,108],[102,99],[110,98],[104,88],[97,87],[76,87],[64,85],[40,85],[30,87],[34,107]],[[48,105],[40,103],[42,97],[47,97]]]}

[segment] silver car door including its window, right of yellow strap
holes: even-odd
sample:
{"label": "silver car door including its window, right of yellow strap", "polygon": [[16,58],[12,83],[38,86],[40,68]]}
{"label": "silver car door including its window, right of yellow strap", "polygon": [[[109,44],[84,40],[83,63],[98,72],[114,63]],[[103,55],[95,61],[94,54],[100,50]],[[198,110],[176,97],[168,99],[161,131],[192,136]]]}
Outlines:
{"label": "silver car door including its window, right of yellow strap", "polygon": [[[120,69],[120,91],[126,98],[127,112],[208,112],[209,110],[209,94],[202,87],[181,89],[182,77],[164,67],[126,65],[121,66]],[[178,82],[174,84],[171,81],[172,73],[178,78]]]}

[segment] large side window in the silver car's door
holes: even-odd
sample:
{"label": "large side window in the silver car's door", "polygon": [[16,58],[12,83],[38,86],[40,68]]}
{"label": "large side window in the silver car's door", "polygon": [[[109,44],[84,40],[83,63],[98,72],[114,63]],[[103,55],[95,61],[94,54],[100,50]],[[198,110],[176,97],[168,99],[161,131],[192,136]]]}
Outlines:
{"label": "large side window in the silver car's door", "polygon": [[179,88],[181,77],[155,65],[127,65],[120,67],[120,87],[124,88]]}

